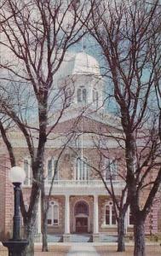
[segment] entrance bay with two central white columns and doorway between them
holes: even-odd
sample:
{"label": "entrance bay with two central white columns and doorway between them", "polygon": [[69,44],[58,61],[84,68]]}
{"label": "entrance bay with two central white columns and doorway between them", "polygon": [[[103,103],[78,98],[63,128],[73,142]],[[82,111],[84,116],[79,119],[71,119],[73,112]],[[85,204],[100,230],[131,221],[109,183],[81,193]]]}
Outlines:
{"label": "entrance bay with two central white columns and doorway between them", "polygon": [[63,241],[70,241],[73,233],[97,234],[98,218],[98,195],[66,195]]}

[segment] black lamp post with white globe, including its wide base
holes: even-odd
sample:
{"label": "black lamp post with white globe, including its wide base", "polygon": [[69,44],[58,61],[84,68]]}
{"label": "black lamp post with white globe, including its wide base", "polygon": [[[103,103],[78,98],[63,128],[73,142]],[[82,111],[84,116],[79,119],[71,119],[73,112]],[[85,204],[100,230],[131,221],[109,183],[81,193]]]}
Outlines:
{"label": "black lamp post with white globe, including its wide base", "polygon": [[14,166],[9,172],[9,179],[14,185],[14,218],[13,238],[3,241],[3,246],[8,247],[9,256],[21,256],[28,241],[20,239],[20,184],[24,182],[26,172],[19,166]]}

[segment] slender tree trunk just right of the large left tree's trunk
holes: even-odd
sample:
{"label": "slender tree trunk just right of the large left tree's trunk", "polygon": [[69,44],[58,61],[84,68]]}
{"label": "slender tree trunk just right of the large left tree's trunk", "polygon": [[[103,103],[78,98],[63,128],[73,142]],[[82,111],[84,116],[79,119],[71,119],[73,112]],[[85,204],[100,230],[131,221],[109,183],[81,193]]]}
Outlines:
{"label": "slender tree trunk just right of the large left tree's trunk", "polygon": [[48,252],[48,236],[47,236],[47,217],[48,217],[48,207],[47,207],[47,201],[45,197],[45,191],[44,191],[44,182],[42,184],[41,189],[41,201],[42,201],[42,239],[43,239],[43,245],[42,245],[42,252]]}

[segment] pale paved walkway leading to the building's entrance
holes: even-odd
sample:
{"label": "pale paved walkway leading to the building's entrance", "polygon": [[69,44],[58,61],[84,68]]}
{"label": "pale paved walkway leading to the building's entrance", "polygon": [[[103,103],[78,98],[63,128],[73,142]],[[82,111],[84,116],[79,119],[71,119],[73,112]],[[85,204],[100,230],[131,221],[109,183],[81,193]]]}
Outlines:
{"label": "pale paved walkway leading to the building's entrance", "polygon": [[99,256],[100,254],[96,253],[95,247],[92,244],[81,245],[74,244],[72,245],[70,251],[66,256]]}

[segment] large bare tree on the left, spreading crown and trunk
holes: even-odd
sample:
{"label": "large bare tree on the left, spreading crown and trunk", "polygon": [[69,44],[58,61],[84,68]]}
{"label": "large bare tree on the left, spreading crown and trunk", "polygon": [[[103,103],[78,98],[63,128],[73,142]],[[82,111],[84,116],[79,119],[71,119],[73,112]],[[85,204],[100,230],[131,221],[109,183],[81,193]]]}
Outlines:
{"label": "large bare tree on the left, spreading crown and trunk", "polygon": [[[1,112],[9,116],[23,134],[32,160],[33,183],[27,212],[21,200],[25,233],[29,241],[24,255],[33,255],[33,227],[43,186],[45,144],[66,110],[66,102],[60,103],[59,95],[63,90],[57,87],[55,77],[66,50],[83,37],[80,16],[85,8],[86,1],[78,6],[73,1],[6,0],[0,11],[5,20],[1,24],[0,41],[0,68],[3,70],[1,92],[5,91]],[[86,9],[86,19],[88,17]],[[21,91],[21,97],[13,96],[15,88],[18,88],[19,96]],[[61,108],[49,124],[49,111],[55,109],[52,95]],[[24,110],[26,101],[27,111]],[[28,119],[25,113],[29,114]],[[37,120],[37,125],[32,125],[31,114]],[[13,158],[11,155],[10,157]],[[13,158],[12,165],[14,164]]]}

